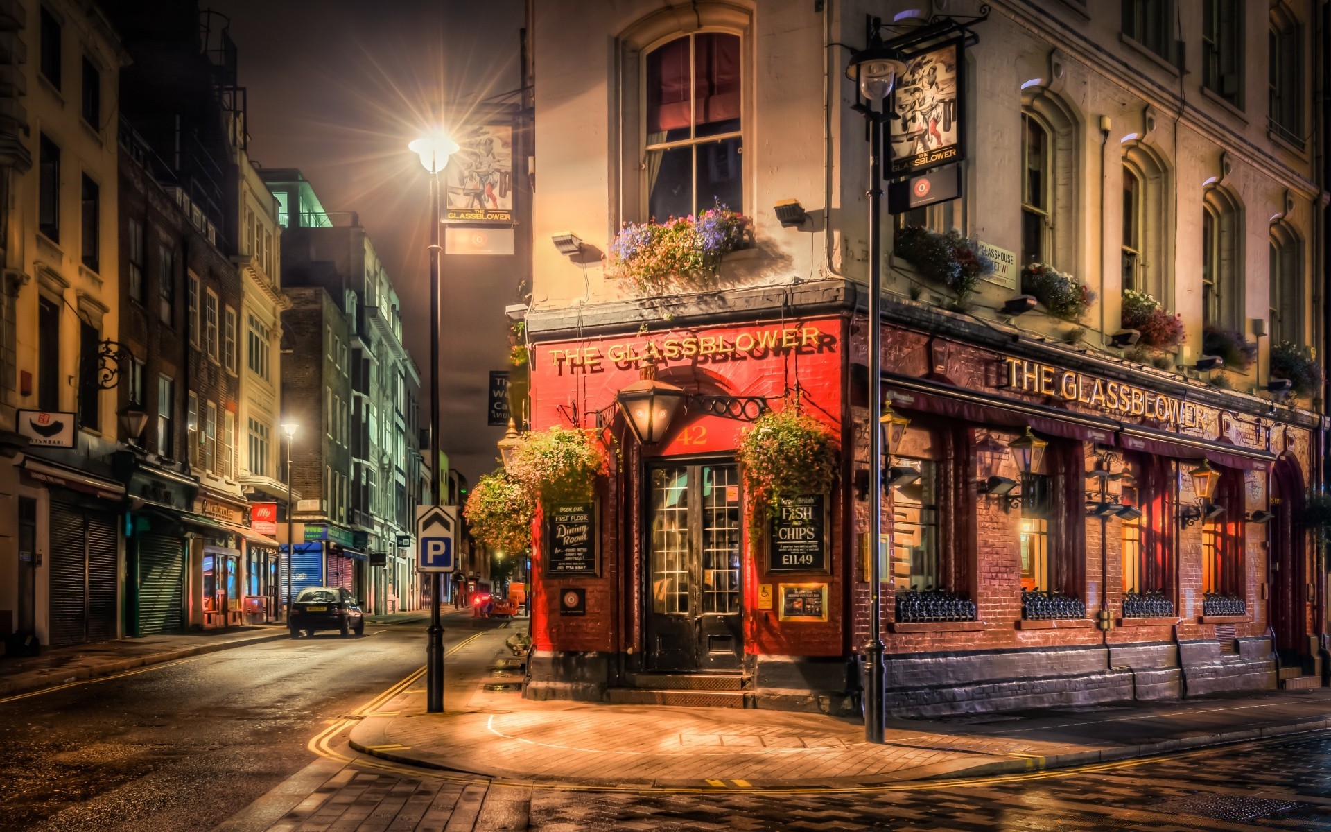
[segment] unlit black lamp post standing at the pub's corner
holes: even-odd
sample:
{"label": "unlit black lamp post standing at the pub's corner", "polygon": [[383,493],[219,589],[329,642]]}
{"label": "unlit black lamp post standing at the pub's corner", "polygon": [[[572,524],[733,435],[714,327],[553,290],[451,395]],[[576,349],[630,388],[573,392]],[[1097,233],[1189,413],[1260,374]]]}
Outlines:
{"label": "unlit black lamp post standing at the pub's corner", "polygon": [[[869,19],[869,45],[851,56],[847,76],[856,83],[853,109],[869,125],[869,418],[882,409],[881,389],[881,315],[882,315],[882,121],[889,117],[892,87],[897,75],[905,71],[902,55],[882,43],[882,23]],[[862,97],[862,100],[861,100]],[[880,109],[874,109],[874,104]],[[864,739],[882,743],[886,722],[885,672],[882,667],[882,564],[878,556],[878,538],[882,534],[882,458],[881,434],[869,429],[869,640],[864,646],[865,702]]]}

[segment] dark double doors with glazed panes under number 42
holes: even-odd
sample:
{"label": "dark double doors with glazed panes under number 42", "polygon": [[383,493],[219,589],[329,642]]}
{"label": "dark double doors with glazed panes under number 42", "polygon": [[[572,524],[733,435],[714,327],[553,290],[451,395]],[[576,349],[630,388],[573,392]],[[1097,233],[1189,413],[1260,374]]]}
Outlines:
{"label": "dark double doors with glazed panes under number 42", "polygon": [[655,671],[737,671],[744,654],[733,462],[648,470],[647,664]]}

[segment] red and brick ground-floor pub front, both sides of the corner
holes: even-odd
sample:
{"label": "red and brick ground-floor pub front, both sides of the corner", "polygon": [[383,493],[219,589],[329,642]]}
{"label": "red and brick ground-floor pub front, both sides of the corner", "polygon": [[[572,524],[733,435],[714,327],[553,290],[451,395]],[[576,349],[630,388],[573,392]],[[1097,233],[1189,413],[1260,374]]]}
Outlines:
{"label": "red and brick ground-floor pub front, both sides of the corner", "polygon": [[[884,326],[876,546],[862,315],[538,339],[532,429],[578,425],[611,450],[592,502],[538,518],[526,695],[856,715],[869,556],[894,715],[1316,672],[1324,611],[1296,522],[1316,417],[976,329]],[[647,442],[616,406],[644,365],[684,390]],[[840,446],[836,482],[755,534],[736,447],[796,398]]]}

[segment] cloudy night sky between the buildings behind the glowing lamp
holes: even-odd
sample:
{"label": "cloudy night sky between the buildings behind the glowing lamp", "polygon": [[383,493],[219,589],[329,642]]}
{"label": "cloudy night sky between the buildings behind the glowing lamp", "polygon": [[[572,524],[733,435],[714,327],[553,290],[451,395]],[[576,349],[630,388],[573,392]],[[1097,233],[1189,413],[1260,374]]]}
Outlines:
{"label": "cloudy night sky between the buildings behind the glowing lamp", "polygon": [[[249,91],[250,158],[299,168],[329,212],[354,210],[402,298],[407,347],[429,373],[426,173],[406,144],[437,121],[519,84],[522,0],[217,0]],[[453,261],[454,258],[449,258]],[[443,419],[450,462],[471,482],[494,467],[502,429],[484,423],[488,370],[506,367],[503,306],[458,258],[443,294]],[[504,258],[510,260],[510,258]],[[498,264],[496,264],[498,265]],[[492,268],[492,266],[491,266]],[[495,276],[496,281],[499,276]],[[427,389],[429,379],[422,378]],[[421,423],[429,425],[425,390]]]}

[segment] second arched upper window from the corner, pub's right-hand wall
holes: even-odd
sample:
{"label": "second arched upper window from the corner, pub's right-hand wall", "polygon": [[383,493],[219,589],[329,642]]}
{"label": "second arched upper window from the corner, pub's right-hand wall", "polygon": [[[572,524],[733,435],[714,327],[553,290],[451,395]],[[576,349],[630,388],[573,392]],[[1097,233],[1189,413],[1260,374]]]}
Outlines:
{"label": "second arched upper window from the corner, pub's right-hand wall", "polygon": [[1123,153],[1123,289],[1146,292],[1166,306],[1167,181],[1165,165],[1141,144]]}

